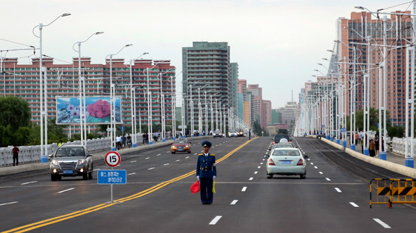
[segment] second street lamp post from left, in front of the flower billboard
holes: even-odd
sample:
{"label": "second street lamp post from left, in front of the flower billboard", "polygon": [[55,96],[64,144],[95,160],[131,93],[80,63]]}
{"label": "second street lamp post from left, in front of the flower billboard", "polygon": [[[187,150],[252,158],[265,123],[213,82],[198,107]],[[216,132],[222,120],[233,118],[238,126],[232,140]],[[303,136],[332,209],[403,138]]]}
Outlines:
{"label": "second street lamp post from left, in front of the flower billboard", "polygon": [[[102,34],[103,32],[95,32],[89,38],[91,38],[94,35]],[[86,40],[89,40],[87,38]],[[81,44],[84,41],[78,41],[75,44],[72,45],[72,49],[76,51],[76,49],[73,47],[74,45],[78,44],[78,82],[80,84],[80,134],[81,134],[81,144],[86,146],[86,100],[85,100],[85,77],[82,77],[81,73]],[[82,103],[83,102],[83,103]],[[84,131],[82,131],[84,129]],[[84,136],[82,136],[84,134]]]}

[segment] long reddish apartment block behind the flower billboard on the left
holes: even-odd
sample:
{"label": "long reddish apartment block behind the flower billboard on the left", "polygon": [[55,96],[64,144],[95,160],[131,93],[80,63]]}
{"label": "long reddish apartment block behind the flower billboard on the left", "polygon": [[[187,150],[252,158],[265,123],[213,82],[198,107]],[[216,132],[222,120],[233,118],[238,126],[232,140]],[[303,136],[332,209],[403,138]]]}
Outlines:
{"label": "long reddish apartment block behind the flower billboard on the left", "polygon": [[[172,94],[175,93],[176,82],[175,67],[170,65],[170,61],[136,60],[132,63],[132,86],[135,87],[133,99],[130,93],[130,65],[126,65],[124,59],[112,61],[112,81],[115,84],[115,97],[121,99],[122,125],[126,129],[131,127],[132,100],[136,103],[137,120],[141,125],[148,125],[148,92],[151,93],[152,123],[160,124],[162,121],[162,94],[166,125],[170,125],[173,117]],[[32,110],[31,120],[34,123],[41,121],[39,62],[39,58],[33,58],[32,64],[18,64],[17,58],[5,58],[2,64],[4,79],[0,80],[0,86],[3,86],[0,95],[25,99]],[[52,58],[43,58],[43,66],[47,67],[47,116],[48,119],[53,119],[56,118],[56,97],[79,97],[78,58],[73,58],[73,64],[54,64]],[[107,59],[105,64],[91,64],[91,58],[82,58],[81,66],[86,97],[108,97],[110,60]],[[139,125],[137,123],[137,127]],[[95,125],[89,123],[87,127],[95,129]],[[72,125],[71,129],[72,133],[79,133],[79,124]]]}

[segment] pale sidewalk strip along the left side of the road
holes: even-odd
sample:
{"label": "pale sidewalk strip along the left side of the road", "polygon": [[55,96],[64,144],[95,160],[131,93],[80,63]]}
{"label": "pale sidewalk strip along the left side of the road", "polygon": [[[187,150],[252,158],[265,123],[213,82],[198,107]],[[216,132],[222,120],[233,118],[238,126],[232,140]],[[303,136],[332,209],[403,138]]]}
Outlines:
{"label": "pale sidewalk strip along the left side of the road", "polygon": [[[211,136],[198,136],[194,138],[188,138],[189,140],[196,140],[200,138],[211,138]],[[125,148],[120,149],[117,152],[120,154],[120,156],[123,156],[124,154],[136,152],[136,151],[142,151],[145,149],[152,149],[155,147],[163,147],[165,145],[170,145],[172,143],[172,140],[167,140],[166,142],[162,142],[161,140],[155,142],[153,141],[152,145],[147,144],[139,144],[135,148]],[[96,160],[104,160],[106,154],[111,151],[110,148],[108,149],[101,149],[97,151],[92,151],[91,154],[93,154],[93,161]],[[48,158],[48,162],[38,162],[38,163],[27,163],[27,164],[19,164],[19,166],[8,166],[8,167],[0,167],[0,175],[10,175],[14,173],[21,173],[25,171],[36,171],[36,170],[42,170],[42,169],[49,169],[49,162],[50,159]]]}

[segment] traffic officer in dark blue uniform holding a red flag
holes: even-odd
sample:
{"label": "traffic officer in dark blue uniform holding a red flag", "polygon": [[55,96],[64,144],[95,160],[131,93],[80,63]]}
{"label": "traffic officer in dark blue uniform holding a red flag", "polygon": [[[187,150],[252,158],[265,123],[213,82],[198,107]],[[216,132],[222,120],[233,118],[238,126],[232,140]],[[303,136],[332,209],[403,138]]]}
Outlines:
{"label": "traffic officer in dark blue uniform holding a red flag", "polygon": [[211,143],[209,141],[203,142],[203,154],[198,155],[198,162],[196,163],[196,179],[200,184],[200,200],[203,205],[211,205],[213,199],[212,186],[213,180],[216,180],[216,156],[209,154]]}

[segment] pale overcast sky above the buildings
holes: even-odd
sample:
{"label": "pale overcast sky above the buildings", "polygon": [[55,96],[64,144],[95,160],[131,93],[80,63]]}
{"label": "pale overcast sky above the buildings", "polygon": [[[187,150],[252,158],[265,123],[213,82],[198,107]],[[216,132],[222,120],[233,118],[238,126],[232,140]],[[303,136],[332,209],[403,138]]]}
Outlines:
{"label": "pale overcast sky above the buildings", "polygon": [[[369,10],[411,10],[402,0],[2,0],[0,49],[20,49],[5,40],[39,47],[32,29],[39,23],[49,24],[63,13],[71,13],[43,29],[43,54],[71,62],[78,53],[72,45],[82,44],[81,56],[104,64],[105,57],[171,60],[176,71],[182,71],[182,47],[193,41],[228,42],[231,62],[239,64],[239,78],[263,88],[263,99],[273,108],[299,102],[304,83],[316,80],[317,65],[328,62],[327,49],[334,47],[336,19],[350,18],[356,5]],[[404,5],[400,5],[406,3]],[[391,8],[394,5],[400,5]],[[38,34],[38,28],[35,29]],[[12,52],[5,57],[21,58],[27,64],[32,51]],[[3,53],[3,56],[5,53]],[[39,53],[37,52],[38,56]],[[56,64],[64,62],[56,61]],[[181,81],[178,76],[177,82]],[[180,89],[179,85],[176,87]]]}

